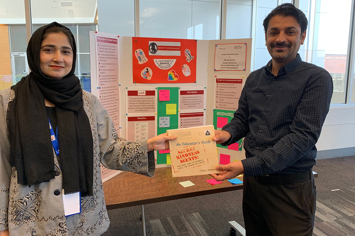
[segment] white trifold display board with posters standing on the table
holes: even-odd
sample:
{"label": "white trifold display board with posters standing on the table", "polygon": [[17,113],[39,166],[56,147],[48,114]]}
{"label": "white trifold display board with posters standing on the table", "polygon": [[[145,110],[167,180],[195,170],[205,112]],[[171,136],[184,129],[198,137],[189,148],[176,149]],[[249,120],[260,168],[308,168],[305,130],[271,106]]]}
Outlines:
{"label": "white trifold display board with posters standing on the table", "polygon": [[[89,38],[92,93],[102,102],[106,101],[104,96],[115,100],[105,102],[108,110],[119,104],[113,114],[119,111],[118,122],[122,122],[114,121],[114,125],[120,137],[133,142],[152,138],[168,129],[212,124],[215,129],[222,129],[233,118],[250,74],[251,39],[119,37],[94,31],[90,31]],[[109,61],[112,56],[107,54],[114,48],[98,51],[98,38],[110,39],[104,46],[117,40],[119,77],[116,81],[100,74],[112,74],[116,70],[98,64],[97,58],[106,60],[103,63],[113,63]],[[114,84],[105,88],[100,75]],[[103,92],[103,88],[116,89],[115,86],[118,91]],[[228,147],[217,146],[221,164],[245,158],[242,140]],[[155,152],[155,161],[157,167],[170,166],[169,150]]]}

